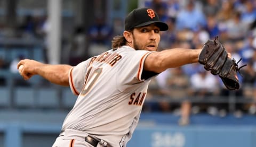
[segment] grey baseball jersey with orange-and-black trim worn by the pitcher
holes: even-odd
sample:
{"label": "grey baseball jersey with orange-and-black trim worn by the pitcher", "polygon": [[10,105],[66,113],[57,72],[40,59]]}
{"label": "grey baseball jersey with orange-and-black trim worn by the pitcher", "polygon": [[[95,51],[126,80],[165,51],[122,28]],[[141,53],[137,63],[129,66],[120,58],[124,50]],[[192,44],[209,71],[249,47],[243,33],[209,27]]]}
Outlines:
{"label": "grey baseball jersey with orange-and-black trim worn by the pitcher", "polygon": [[71,68],[70,88],[78,98],[62,130],[77,129],[113,146],[126,146],[138,124],[151,79],[141,78],[150,53],[123,46]]}

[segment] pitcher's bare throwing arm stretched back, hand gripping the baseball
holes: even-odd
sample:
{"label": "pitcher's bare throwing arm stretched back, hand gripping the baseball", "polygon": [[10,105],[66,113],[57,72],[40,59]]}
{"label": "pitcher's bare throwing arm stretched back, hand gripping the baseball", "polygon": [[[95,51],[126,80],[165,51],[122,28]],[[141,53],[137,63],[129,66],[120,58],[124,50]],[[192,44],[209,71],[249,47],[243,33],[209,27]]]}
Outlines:
{"label": "pitcher's bare throwing arm stretched back, hand gripping the baseball", "polygon": [[17,64],[17,68],[23,65],[21,76],[28,80],[33,75],[40,75],[44,79],[58,85],[69,85],[68,73],[72,66],[70,65],[50,65],[37,62],[36,60],[23,59]]}

